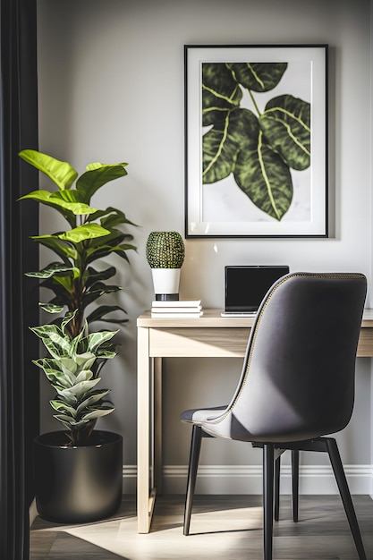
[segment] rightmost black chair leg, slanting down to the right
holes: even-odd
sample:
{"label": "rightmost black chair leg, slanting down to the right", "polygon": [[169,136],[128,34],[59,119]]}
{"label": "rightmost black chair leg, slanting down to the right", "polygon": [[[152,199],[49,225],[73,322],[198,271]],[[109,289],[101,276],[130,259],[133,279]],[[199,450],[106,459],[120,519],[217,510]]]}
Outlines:
{"label": "rightmost black chair leg, slanting down to the right", "polygon": [[332,463],[333,471],[335,473],[335,479],[343,501],[344,511],[350,524],[350,529],[352,532],[353,540],[355,542],[355,547],[358,551],[359,560],[367,560],[364,545],[361,539],[359,523],[356,518],[355,508],[352,504],[352,497],[343,471],[343,464],[338,451],[338,446],[336,445],[335,439],[331,437],[325,438],[325,440],[327,453],[329,454],[330,462]]}

